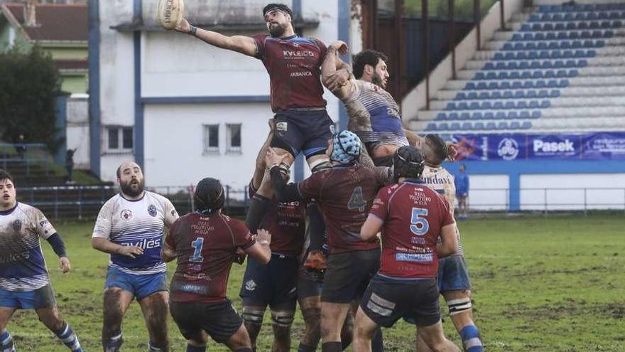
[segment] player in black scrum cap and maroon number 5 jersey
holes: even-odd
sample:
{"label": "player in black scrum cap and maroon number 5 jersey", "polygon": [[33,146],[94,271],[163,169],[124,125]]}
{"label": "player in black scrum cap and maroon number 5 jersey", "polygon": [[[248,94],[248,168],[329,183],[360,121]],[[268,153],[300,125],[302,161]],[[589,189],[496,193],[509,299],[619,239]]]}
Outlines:
{"label": "player in black scrum cap and maroon number 5 jersey", "polygon": [[376,329],[404,317],[415,321],[432,351],[460,352],[443,334],[436,282],[437,258],[457,251],[455,221],[445,198],[420,181],[424,164],[415,147],[398,149],[393,157],[398,183],[378,192],[362,226],[363,240],[377,240],[381,230],[383,252],[356,315],[354,351],[371,351]]}

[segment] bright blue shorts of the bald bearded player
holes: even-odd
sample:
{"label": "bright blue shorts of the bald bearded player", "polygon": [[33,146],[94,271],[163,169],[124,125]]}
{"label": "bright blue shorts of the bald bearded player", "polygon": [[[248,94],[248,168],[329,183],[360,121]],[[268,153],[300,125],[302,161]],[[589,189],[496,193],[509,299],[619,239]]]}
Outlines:
{"label": "bright blue shorts of the bald bearded player", "polygon": [[116,267],[109,267],[107,272],[107,283],[104,289],[109,287],[119,287],[128,291],[137,300],[148,297],[154,292],[167,291],[167,273],[158,272],[156,274],[135,275],[122,272]]}

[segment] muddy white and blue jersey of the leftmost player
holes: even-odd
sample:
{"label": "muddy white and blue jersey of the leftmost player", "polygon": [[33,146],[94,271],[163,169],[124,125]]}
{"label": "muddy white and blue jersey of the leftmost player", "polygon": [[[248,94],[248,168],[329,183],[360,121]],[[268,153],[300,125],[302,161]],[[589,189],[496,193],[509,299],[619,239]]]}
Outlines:
{"label": "muddy white and blue jersey of the leftmost player", "polygon": [[0,211],[0,288],[33,291],[50,283],[40,238],[56,230],[41,210],[16,203]]}

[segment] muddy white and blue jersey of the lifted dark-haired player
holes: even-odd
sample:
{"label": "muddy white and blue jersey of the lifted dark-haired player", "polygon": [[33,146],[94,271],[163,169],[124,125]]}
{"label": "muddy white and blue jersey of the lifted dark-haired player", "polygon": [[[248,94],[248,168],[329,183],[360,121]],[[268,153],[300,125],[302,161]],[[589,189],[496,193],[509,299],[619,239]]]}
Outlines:
{"label": "muddy white and blue jersey of the lifted dark-haired player", "polygon": [[349,94],[342,99],[349,115],[347,129],[369,146],[407,146],[399,107],[391,93],[364,80],[352,78],[351,82]]}

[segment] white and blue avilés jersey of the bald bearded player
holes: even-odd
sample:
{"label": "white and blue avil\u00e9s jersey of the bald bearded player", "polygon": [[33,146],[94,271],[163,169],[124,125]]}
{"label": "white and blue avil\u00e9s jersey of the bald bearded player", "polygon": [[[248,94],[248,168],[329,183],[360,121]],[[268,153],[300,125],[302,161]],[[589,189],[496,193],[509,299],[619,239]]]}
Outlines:
{"label": "white and blue avil\u00e9s jersey of the bald bearded player", "polygon": [[137,246],[143,255],[135,258],[111,255],[109,266],[129,274],[156,274],[167,267],[161,260],[163,230],[178,218],[173,204],[165,197],[145,191],[143,197],[129,201],[120,194],[104,203],[98,214],[94,238],[106,238],[117,245]]}

